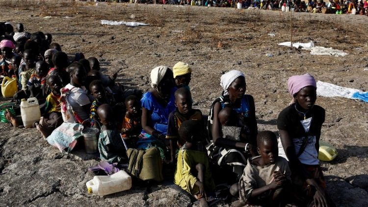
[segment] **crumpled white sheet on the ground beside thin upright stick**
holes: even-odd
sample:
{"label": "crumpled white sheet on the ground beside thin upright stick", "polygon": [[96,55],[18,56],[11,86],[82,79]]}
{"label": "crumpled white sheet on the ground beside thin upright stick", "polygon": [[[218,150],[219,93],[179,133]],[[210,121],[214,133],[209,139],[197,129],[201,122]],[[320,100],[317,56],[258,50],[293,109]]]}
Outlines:
{"label": "crumpled white sheet on the ground beside thin upright stick", "polygon": [[[291,42],[282,42],[282,43],[279,43],[278,45],[290,47]],[[292,47],[311,51],[311,54],[313,55],[333,55],[336,57],[339,57],[339,56],[343,57],[348,54],[346,52],[335,50],[333,48],[324,48],[324,47],[315,46],[313,41],[309,43],[295,42],[295,43],[292,43]]]}

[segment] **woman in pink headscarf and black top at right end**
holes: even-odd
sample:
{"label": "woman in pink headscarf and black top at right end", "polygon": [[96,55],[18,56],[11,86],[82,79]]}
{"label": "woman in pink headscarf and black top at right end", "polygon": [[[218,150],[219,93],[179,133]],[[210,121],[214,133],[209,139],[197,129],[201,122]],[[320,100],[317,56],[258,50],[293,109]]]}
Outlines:
{"label": "woman in pink headscarf and black top at right end", "polygon": [[327,207],[326,182],[319,166],[318,149],[325,110],[315,105],[316,83],[310,74],[288,80],[293,103],[277,119],[281,143],[289,159],[297,206]]}

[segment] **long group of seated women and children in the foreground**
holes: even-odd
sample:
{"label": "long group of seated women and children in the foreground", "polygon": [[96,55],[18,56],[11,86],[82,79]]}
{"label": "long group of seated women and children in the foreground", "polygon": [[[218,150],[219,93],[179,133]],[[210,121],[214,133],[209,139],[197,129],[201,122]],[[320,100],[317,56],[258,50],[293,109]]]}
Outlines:
{"label": "long group of seated women and children in the foreground", "polygon": [[[216,198],[236,206],[333,206],[317,158],[325,111],[315,105],[313,76],[289,78],[292,102],[279,114],[278,139],[272,131],[258,131],[255,101],[245,93],[240,71],[221,76],[223,91],[207,118],[192,108],[199,98],[189,87],[195,71],[184,62],[172,70],[152,69],[152,88],[145,93],[125,90],[115,81],[117,74],[101,72],[96,57],[78,52],[68,58],[50,33],[15,27],[0,24],[0,74],[19,83],[12,102],[38,99],[42,117],[34,125],[60,151],[74,149],[80,128],[99,128],[101,160],[128,163],[124,142],[129,148],[155,148],[164,167],[150,170],[163,171],[201,207]],[[14,127],[22,124],[9,110],[5,116]]]}

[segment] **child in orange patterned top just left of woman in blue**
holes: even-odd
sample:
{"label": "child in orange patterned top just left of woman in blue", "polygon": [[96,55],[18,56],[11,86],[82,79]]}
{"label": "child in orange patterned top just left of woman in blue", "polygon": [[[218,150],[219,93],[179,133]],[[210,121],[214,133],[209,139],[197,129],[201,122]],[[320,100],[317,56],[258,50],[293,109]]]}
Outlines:
{"label": "child in orange patterned top just left of woman in blue", "polygon": [[122,137],[133,137],[138,136],[142,131],[142,108],[140,105],[140,101],[136,96],[131,95],[125,99],[125,106],[127,111],[125,113],[125,118],[122,124]]}

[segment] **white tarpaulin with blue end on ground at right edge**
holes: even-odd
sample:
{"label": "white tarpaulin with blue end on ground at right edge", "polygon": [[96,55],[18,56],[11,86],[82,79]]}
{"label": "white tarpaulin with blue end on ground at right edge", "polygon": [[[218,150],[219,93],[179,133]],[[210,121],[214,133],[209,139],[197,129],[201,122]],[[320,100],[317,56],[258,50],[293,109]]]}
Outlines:
{"label": "white tarpaulin with blue end on ground at right edge", "polygon": [[368,92],[354,88],[346,88],[332,83],[317,81],[317,95],[324,97],[342,97],[368,102]]}

